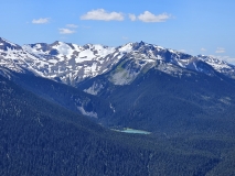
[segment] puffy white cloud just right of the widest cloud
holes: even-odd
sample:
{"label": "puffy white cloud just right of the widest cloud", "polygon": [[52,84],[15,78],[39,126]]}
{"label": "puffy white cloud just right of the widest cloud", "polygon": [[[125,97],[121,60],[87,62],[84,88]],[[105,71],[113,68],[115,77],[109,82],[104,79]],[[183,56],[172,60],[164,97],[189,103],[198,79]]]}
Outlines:
{"label": "puffy white cloud just right of the widest cloud", "polygon": [[171,15],[167,13],[156,15],[149,11],[145,11],[142,14],[138,16],[138,19],[142,22],[164,22],[170,18]]}

